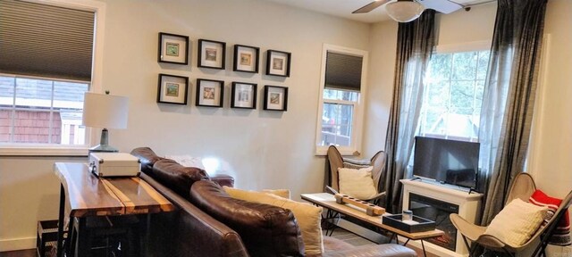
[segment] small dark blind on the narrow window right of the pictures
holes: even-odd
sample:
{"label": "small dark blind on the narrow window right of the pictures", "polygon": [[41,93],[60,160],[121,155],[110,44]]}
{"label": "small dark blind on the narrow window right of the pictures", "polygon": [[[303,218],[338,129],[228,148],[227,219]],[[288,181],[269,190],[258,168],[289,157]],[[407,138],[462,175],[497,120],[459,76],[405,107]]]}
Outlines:
{"label": "small dark blind on the narrow window right of the pictures", "polygon": [[325,66],[325,88],[359,91],[363,57],[328,52]]}

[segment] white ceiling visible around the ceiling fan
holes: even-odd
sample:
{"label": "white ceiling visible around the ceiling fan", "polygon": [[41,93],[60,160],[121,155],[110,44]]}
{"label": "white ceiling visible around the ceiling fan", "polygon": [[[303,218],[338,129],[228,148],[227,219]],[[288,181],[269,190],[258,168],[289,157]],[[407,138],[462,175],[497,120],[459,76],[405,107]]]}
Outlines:
{"label": "white ceiling visible around the ceiling fan", "polygon": [[[330,14],[336,17],[346,18],[353,21],[361,21],[374,23],[379,21],[388,21],[390,17],[385,12],[385,8],[380,6],[372,12],[356,13],[351,12],[358,8],[373,2],[374,0],[265,0],[278,4],[290,5],[300,9],[306,9],[314,12]],[[452,0],[463,6],[486,3],[491,0]],[[462,10],[462,9],[461,9]]]}

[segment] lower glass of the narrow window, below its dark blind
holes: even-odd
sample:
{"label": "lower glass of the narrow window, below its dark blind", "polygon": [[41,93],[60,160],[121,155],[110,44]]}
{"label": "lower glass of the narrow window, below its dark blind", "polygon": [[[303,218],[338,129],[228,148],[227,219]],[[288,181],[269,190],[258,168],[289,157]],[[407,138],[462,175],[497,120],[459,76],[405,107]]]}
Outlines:
{"label": "lower glass of the narrow window, below its dark blind", "polygon": [[320,145],[350,145],[356,91],[324,89],[322,140]]}

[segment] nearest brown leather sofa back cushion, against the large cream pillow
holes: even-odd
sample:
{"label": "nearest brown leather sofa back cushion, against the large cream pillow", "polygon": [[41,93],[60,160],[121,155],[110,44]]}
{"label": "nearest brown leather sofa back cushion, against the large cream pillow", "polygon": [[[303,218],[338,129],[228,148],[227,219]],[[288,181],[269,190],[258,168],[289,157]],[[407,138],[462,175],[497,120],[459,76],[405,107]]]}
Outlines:
{"label": "nearest brown leather sofa back cushion, against the large cream pillow", "polygon": [[304,255],[304,243],[292,211],[232,198],[210,180],[195,182],[189,195],[199,209],[238,232],[251,256]]}

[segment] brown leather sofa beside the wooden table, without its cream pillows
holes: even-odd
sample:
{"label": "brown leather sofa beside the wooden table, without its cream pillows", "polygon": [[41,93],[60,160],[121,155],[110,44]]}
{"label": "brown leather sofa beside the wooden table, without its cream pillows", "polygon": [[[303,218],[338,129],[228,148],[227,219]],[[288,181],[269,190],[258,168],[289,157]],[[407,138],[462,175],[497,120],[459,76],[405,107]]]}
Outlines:
{"label": "brown leather sofa beside the wooden table, without its cream pillows", "polygon": [[[209,178],[205,170],[183,167],[148,147],[131,154],[141,162],[140,177],[176,206],[151,216],[150,256],[304,256],[299,226],[290,210],[231,198],[221,185],[233,178]],[[324,236],[324,256],[409,257],[401,245],[353,246]]]}

